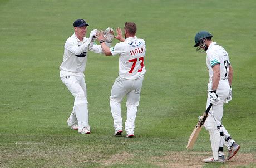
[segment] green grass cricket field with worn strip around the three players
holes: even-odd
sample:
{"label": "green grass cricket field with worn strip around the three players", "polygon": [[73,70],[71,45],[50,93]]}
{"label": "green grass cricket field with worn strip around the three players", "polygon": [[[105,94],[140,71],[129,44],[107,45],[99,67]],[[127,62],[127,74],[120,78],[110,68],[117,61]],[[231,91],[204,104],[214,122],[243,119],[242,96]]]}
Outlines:
{"label": "green grass cricket field with worn strip around the three players", "polygon": [[[253,0],[1,0],[0,167],[256,167],[255,8]],[[135,22],[146,41],[134,139],[113,135],[109,96],[118,57],[93,52],[85,71],[91,134],[67,126],[73,97],[58,67],[77,18],[90,24],[87,36]],[[234,68],[223,125],[241,149],[224,164],[203,163],[211,155],[205,130],[186,149],[206,103],[205,55],[194,48],[200,30],[224,46]],[[125,120],[125,100],[122,109]]]}

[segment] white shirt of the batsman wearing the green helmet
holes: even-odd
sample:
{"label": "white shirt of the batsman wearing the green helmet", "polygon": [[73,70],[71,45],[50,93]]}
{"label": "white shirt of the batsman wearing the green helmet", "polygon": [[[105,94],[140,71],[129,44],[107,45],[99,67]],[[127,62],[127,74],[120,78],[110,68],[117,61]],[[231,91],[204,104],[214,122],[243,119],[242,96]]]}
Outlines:
{"label": "white shirt of the batsman wearing the green helmet", "polygon": [[228,80],[228,70],[229,70],[229,56],[227,51],[217,45],[216,42],[210,43],[206,51],[206,65],[209,72],[209,82],[211,82],[213,77],[213,66],[220,64],[220,80]]}

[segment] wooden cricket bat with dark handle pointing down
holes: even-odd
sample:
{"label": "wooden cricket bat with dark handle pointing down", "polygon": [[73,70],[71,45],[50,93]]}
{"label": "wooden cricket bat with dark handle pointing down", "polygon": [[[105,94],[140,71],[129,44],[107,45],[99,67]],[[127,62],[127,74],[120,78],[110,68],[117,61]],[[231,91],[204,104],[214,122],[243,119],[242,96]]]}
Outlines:
{"label": "wooden cricket bat with dark handle pointing down", "polygon": [[188,145],[186,145],[187,149],[192,149],[196,139],[198,138],[198,135],[202,129],[202,126],[206,120],[206,118],[208,117],[208,113],[211,109],[211,106],[213,106],[212,103],[210,103],[209,107],[206,109],[206,111],[203,113],[203,116],[201,116],[200,120],[198,121],[198,123],[196,124],[193,132],[191,133],[190,137],[189,137],[189,142]]}

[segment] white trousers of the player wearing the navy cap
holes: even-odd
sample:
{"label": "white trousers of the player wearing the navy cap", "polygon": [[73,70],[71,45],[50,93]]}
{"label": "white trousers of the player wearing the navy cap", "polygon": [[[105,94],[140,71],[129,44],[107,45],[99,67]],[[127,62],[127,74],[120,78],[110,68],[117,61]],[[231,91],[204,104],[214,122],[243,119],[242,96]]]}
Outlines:
{"label": "white trousers of the player wearing the navy cap", "polygon": [[75,97],[73,106],[73,112],[75,115],[72,115],[72,120],[77,120],[78,132],[81,132],[83,127],[87,127],[90,131],[85,75],[82,72],[68,72],[61,70],[60,77],[68,90]]}

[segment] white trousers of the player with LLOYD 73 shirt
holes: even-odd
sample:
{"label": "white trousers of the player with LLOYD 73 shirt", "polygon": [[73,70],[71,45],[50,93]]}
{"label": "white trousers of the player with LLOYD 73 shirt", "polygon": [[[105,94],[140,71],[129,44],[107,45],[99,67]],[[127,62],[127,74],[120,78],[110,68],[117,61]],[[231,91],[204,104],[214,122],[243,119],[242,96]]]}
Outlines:
{"label": "white trousers of the player with LLOYD 73 shirt", "polygon": [[134,134],[135,118],[140,102],[140,92],[144,77],[136,80],[126,80],[118,77],[111,90],[110,108],[114,119],[114,129],[122,130],[121,102],[127,95],[125,131],[127,134]]}

